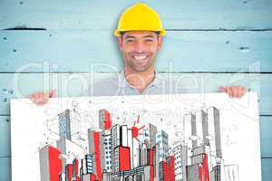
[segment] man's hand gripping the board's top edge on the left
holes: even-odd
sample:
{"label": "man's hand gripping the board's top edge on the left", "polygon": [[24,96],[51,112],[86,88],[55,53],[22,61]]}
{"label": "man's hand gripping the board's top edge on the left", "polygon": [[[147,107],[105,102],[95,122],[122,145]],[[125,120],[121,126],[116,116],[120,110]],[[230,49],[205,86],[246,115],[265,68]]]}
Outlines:
{"label": "man's hand gripping the board's top edge on the left", "polygon": [[49,98],[55,97],[55,90],[50,90],[49,92],[36,92],[29,96],[29,99],[38,106],[44,106],[49,100]]}

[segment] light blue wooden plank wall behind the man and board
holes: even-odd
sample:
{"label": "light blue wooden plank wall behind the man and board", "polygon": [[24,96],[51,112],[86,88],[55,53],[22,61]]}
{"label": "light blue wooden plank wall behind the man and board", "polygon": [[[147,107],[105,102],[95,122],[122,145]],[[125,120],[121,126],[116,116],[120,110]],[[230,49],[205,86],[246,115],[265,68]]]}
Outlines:
{"label": "light blue wooden plank wall behind the man and board", "polygon": [[[135,2],[0,0],[1,181],[11,180],[9,100],[51,89],[84,96],[94,81],[120,71],[113,30]],[[272,1],[141,2],[160,13],[167,29],[160,73],[184,77],[191,92],[235,84],[257,91],[262,180],[271,180]]]}

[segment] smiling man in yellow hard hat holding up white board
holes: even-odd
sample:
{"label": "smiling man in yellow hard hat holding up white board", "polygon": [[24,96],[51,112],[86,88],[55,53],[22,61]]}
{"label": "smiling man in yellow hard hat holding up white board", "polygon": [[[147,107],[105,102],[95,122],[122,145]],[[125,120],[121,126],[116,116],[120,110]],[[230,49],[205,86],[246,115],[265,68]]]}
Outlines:
{"label": "smiling man in yellow hard hat holding up white board", "polygon": [[[90,90],[93,96],[140,95],[185,93],[179,91],[175,81],[167,80],[155,71],[156,55],[160,51],[163,36],[160,15],[151,7],[138,3],[126,9],[119,20],[115,35],[123,56],[123,71],[110,79],[100,81]],[[242,97],[244,87],[220,87],[221,92],[231,98]],[[55,91],[34,93],[30,99],[37,105],[44,105]]]}

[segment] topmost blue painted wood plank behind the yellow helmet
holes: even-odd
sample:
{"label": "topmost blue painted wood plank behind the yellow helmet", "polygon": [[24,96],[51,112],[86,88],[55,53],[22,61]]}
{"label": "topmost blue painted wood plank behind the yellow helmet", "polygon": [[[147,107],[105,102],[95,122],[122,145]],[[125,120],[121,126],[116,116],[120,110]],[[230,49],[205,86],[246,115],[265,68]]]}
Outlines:
{"label": "topmost blue painted wood plank behind the yellow helmet", "polygon": [[[136,0],[1,0],[0,28],[114,29]],[[160,13],[168,29],[272,28],[269,0],[142,0]]]}

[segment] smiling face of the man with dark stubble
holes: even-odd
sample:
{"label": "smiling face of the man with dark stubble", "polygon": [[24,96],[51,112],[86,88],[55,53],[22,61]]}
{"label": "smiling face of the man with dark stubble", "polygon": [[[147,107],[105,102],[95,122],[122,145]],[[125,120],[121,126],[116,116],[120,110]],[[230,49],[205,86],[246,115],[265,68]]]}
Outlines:
{"label": "smiling face of the man with dark stubble", "polygon": [[122,34],[118,40],[125,69],[134,72],[154,69],[155,57],[162,43],[161,36],[154,32],[135,31]]}

